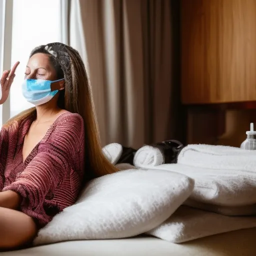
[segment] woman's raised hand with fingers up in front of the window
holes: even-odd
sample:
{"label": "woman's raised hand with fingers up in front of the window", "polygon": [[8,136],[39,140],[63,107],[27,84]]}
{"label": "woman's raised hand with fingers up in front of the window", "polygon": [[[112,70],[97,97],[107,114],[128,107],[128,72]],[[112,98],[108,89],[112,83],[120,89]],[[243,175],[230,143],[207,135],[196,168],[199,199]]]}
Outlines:
{"label": "woman's raised hand with fingers up in front of the window", "polygon": [[1,99],[0,99],[0,104],[3,104],[8,95],[9,95],[9,91],[10,91],[10,85],[12,84],[13,82],[13,79],[15,77],[15,70],[17,68],[19,64],[19,61],[17,61],[14,66],[11,68],[11,70],[5,70],[2,72],[2,77],[1,77],[1,80],[0,80],[0,84],[1,84],[1,91],[2,91],[2,96],[1,96]]}

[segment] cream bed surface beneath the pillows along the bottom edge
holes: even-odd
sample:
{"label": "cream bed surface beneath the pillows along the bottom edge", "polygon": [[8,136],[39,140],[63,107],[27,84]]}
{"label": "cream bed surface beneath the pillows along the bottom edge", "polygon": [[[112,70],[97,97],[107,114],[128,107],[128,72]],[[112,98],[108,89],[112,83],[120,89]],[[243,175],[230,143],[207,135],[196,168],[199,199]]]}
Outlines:
{"label": "cream bed surface beneath the pillows along the bottom edge", "polygon": [[182,244],[150,236],[109,240],[76,240],[1,252],[1,256],[254,256],[256,228],[207,236]]}

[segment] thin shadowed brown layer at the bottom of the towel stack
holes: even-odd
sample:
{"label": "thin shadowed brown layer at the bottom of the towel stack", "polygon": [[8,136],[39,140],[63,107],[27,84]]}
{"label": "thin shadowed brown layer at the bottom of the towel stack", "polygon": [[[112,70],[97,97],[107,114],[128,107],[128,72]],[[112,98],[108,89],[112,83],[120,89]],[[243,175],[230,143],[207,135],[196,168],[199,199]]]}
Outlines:
{"label": "thin shadowed brown layer at the bottom of the towel stack", "polygon": [[193,208],[202,209],[206,211],[215,212],[227,216],[250,216],[256,215],[256,204],[242,205],[242,206],[222,206],[209,203],[203,203],[187,199],[183,202],[184,205]]}

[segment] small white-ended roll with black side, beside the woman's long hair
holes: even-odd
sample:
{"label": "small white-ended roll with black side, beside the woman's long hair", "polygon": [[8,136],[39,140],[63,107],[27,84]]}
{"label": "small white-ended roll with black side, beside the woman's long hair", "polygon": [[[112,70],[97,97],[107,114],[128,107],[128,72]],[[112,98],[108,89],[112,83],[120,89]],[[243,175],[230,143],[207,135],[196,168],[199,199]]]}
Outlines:
{"label": "small white-ended roll with black side, beside the woman's long hair", "polygon": [[134,148],[125,147],[118,143],[110,143],[102,148],[106,158],[112,163],[129,163],[133,164],[133,157],[136,152]]}

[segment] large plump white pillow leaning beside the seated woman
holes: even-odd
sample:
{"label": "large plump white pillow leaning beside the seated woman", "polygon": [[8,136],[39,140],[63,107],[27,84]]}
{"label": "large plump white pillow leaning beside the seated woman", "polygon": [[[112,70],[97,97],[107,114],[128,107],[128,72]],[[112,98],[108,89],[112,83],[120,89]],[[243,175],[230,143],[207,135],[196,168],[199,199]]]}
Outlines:
{"label": "large plump white pillow leaning beside the seated woman", "polygon": [[34,244],[134,236],[167,219],[193,180],[167,170],[129,169],[91,180],[77,202],[39,230]]}

